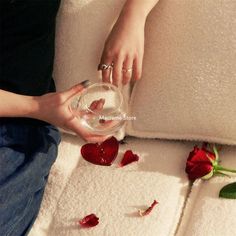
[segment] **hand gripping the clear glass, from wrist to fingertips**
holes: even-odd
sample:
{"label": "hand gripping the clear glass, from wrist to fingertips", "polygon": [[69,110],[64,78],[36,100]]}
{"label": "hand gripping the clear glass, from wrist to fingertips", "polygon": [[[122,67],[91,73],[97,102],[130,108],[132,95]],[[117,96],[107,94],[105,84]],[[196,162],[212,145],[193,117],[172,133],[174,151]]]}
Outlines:
{"label": "hand gripping the clear glass, from wrist to fingertips", "polygon": [[[77,84],[67,91],[48,93],[39,97],[37,112],[33,118],[46,121],[52,125],[70,130],[80,135],[84,140],[89,142],[102,142],[107,136],[94,135],[83,128],[79,119],[72,113],[70,104],[75,95],[84,89],[82,84]],[[96,106],[95,106],[96,105]],[[98,102],[93,104],[93,109],[101,104]]]}

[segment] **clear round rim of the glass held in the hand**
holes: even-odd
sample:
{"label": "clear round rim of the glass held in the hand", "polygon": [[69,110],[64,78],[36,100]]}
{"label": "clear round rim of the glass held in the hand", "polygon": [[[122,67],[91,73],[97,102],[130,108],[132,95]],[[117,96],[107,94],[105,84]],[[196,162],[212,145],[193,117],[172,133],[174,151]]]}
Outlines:
{"label": "clear round rim of the glass held in the hand", "polygon": [[[121,109],[121,106],[122,106],[122,104],[123,104],[123,102],[124,102],[124,98],[123,98],[123,95],[122,95],[121,91],[119,90],[119,88],[116,87],[115,85],[111,84],[111,83],[99,82],[99,83],[94,83],[94,84],[88,86],[88,87],[81,93],[81,96],[80,96],[78,102],[80,102],[80,101],[83,99],[83,96],[86,95],[86,94],[89,92],[89,89],[94,88],[94,87],[100,87],[100,86],[107,86],[107,87],[112,88],[115,92],[117,92],[117,94],[118,94],[118,96],[119,96],[119,98],[120,98],[120,99],[119,99],[119,101],[120,101],[119,106],[118,106],[114,111],[112,111],[111,113],[108,113],[107,115],[113,114],[113,113],[115,113],[116,111],[120,110],[120,109]],[[93,110],[91,110],[89,107],[87,107],[87,110],[88,110],[89,112],[93,113],[93,114],[97,114],[97,115],[101,114],[101,112],[99,112],[99,111],[93,111]]]}

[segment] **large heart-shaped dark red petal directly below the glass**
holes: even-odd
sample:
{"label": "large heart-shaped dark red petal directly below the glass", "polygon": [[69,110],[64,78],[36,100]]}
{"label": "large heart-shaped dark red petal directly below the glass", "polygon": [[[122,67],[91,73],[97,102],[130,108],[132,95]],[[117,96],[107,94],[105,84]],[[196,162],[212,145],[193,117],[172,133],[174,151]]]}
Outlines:
{"label": "large heart-shaped dark red petal directly below the glass", "polygon": [[101,144],[87,143],[81,148],[82,157],[95,165],[110,166],[115,160],[119,142],[115,137],[108,138]]}

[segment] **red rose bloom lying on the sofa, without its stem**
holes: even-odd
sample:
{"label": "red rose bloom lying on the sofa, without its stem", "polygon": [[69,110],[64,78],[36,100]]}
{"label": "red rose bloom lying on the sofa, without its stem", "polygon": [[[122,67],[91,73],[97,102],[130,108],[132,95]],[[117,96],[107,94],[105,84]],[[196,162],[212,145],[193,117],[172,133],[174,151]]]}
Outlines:
{"label": "red rose bloom lying on the sofa, without its stem", "polygon": [[202,178],[206,175],[211,177],[213,175],[213,161],[216,160],[214,153],[206,150],[203,146],[199,149],[197,146],[189,153],[185,172],[188,174],[190,180]]}

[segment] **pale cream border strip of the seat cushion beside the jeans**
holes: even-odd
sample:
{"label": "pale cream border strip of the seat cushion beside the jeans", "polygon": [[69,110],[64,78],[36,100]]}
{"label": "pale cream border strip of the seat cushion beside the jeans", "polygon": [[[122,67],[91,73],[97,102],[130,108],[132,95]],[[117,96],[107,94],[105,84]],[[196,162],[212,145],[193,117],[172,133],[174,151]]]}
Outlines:
{"label": "pale cream border strip of the seat cushion beside the jeans", "polygon": [[58,157],[50,171],[40,213],[29,236],[51,236],[48,228],[52,223],[57,202],[64,191],[70,175],[77,165],[82,141],[72,135],[62,135]]}

